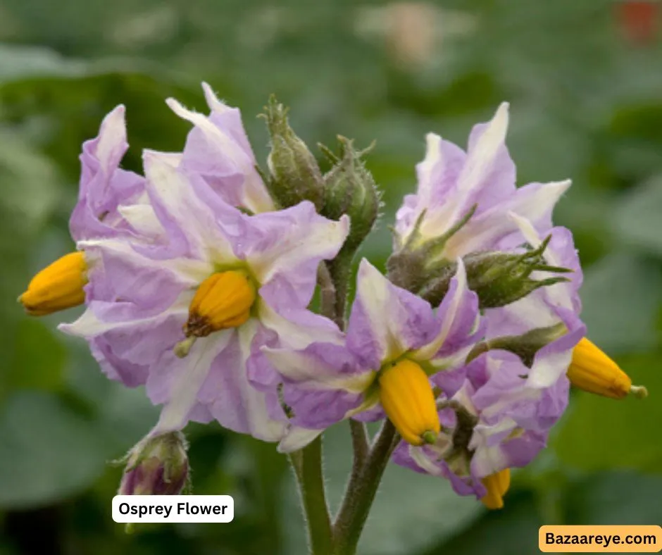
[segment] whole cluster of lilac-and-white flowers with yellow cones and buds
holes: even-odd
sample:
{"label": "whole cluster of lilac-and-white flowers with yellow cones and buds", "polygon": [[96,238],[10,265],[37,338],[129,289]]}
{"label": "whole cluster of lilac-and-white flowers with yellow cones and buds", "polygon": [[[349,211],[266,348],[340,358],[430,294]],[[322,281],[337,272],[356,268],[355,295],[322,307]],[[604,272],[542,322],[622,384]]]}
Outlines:
{"label": "whole cluster of lilac-and-white flowers with yellow cones and buds", "polygon": [[[180,430],[191,420],[288,452],[341,420],[389,418],[394,463],[499,508],[509,469],[544,447],[570,382],[615,398],[644,392],[584,337],[573,238],[551,222],[570,182],[516,187],[507,104],[473,128],[467,151],[427,136],[389,274],[360,262],[343,330],[308,306],[320,263],[373,226],[372,189],[341,206],[340,170],[352,186],[374,185],[362,153],[345,142],[321,175],[272,105],[265,176],[239,111],[204,92],[208,116],[168,100],[194,127],[182,152],[145,151],[144,177],[120,168],[124,107],[106,116],[82,149],[77,250],[20,297],[35,316],[85,303],[61,330],[87,339],[108,378],[163,405],[124,492],[149,492],[134,486],[150,472],[152,492],[180,491],[182,472],[166,478],[187,468]],[[160,466],[163,452],[178,466]]]}

